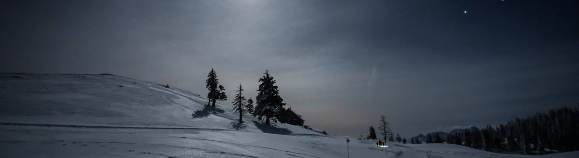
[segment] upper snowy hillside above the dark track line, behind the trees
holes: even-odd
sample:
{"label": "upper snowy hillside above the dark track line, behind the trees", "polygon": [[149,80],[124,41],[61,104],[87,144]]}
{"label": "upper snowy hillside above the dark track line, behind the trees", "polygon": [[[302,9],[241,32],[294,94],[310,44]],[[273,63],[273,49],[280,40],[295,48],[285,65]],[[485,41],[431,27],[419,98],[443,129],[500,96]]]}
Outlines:
{"label": "upper snowy hillside above the dark track line, behind the trees", "polygon": [[[0,123],[235,129],[229,106],[204,106],[199,95],[115,75],[1,74]],[[244,131],[261,132],[254,117]],[[319,134],[289,124],[292,133]]]}

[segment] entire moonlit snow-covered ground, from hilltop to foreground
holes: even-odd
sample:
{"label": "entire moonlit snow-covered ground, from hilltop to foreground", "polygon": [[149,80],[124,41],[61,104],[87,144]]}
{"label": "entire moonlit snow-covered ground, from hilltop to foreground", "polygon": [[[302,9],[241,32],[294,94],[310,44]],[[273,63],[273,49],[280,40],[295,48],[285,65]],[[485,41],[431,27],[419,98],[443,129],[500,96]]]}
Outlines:
{"label": "entire moonlit snow-covered ground, from hilltop to foreground", "polygon": [[[202,84],[200,82],[200,84]],[[345,138],[254,117],[197,94],[115,75],[0,74],[2,157],[346,157]],[[306,118],[307,119],[307,118]],[[352,139],[351,157],[574,157]]]}

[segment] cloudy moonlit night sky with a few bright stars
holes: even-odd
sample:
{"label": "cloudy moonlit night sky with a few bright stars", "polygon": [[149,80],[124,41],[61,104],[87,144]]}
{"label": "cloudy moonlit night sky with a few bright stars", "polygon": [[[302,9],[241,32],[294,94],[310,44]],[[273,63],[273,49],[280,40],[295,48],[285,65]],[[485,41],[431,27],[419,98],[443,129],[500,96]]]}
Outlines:
{"label": "cloudy moonlit night sky with a few bright stars", "polygon": [[[409,138],[579,104],[578,1],[1,1],[0,72],[115,75]],[[464,11],[467,13],[464,13]],[[221,102],[231,105],[232,100]]]}

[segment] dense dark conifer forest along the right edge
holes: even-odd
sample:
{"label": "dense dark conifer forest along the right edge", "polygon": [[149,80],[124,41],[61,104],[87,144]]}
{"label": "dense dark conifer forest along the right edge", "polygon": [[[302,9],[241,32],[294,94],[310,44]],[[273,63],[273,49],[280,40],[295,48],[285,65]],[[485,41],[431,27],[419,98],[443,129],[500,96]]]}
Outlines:
{"label": "dense dark conifer forest along the right edge", "polygon": [[[536,113],[525,119],[515,118],[495,127],[472,127],[449,134],[445,139],[438,134],[427,134],[426,143],[464,145],[491,152],[544,155],[579,150],[578,130],[578,109],[563,107],[550,109],[548,113]],[[418,143],[422,142],[411,140],[411,144]]]}

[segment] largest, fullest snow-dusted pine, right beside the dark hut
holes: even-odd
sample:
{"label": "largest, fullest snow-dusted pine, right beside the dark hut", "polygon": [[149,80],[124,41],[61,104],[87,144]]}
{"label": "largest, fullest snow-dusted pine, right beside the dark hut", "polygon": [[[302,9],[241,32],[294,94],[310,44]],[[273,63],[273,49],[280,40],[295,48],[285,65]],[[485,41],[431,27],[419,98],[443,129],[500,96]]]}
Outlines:
{"label": "largest, fullest snow-dusted pine, right beside the dark hut", "polygon": [[273,120],[273,122],[280,120],[283,123],[284,120],[281,120],[281,114],[285,112],[285,103],[279,95],[277,86],[274,85],[276,80],[273,79],[273,76],[269,75],[269,71],[267,70],[265,70],[263,75],[262,78],[259,78],[261,84],[259,84],[259,93],[257,97],[255,97],[256,106],[254,117],[258,116],[259,120],[263,120],[265,117],[265,124],[267,125],[270,124],[269,120]]}

